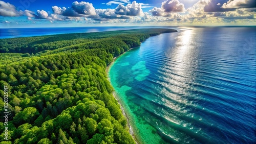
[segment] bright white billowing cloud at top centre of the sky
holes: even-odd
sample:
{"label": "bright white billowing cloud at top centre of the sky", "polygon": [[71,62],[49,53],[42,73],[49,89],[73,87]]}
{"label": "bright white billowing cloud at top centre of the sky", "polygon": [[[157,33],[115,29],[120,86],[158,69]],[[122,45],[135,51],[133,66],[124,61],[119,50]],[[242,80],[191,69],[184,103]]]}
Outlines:
{"label": "bright white billowing cloud at top centre of the sky", "polygon": [[127,4],[126,6],[123,6],[121,4],[118,5],[118,7],[115,9],[116,14],[120,15],[141,15],[143,13],[141,9],[141,4],[134,1],[132,4]]}

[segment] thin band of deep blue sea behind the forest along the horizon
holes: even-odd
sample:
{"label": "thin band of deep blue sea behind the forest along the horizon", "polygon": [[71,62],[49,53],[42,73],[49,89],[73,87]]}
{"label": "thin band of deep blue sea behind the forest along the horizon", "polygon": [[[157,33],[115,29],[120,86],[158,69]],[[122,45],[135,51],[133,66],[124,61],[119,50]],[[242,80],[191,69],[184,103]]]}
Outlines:
{"label": "thin band of deep blue sea behind the forest along the horizon", "polygon": [[[163,29],[180,29],[180,28],[242,28],[242,27],[256,27],[256,26],[95,26],[95,27],[40,27],[40,28],[0,28],[1,36],[0,39],[6,38],[19,38],[19,37],[33,37],[33,36],[47,36],[47,35],[57,35],[57,34],[75,34],[75,33],[89,33],[89,32],[105,32],[115,30],[132,30],[132,29],[144,29],[144,28],[163,28]],[[35,29],[40,30],[40,33],[28,33],[31,30],[34,32]],[[104,30],[105,29],[105,30]],[[107,30],[110,29],[110,30]],[[9,33],[8,30],[15,30],[16,35]],[[36,31],[38,31],[36,30]],[[56,30],[56,31],[53,31]],[[63,32],[64,30],[65,32]],[[62,32],[61,32],[62,31]],[[39,35],[38,35],[39,34]]]}

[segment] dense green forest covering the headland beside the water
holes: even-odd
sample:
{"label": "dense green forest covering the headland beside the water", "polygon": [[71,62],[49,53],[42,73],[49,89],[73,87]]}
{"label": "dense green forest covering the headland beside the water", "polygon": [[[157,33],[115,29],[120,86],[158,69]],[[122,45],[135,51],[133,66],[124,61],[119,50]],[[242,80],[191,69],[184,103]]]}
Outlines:
{"label": "dense green forest covering the headland beside the water", "polygon": [[1,143],[135,143],[105,69],[150,36],[170,32],[177,31],[0,39]]}

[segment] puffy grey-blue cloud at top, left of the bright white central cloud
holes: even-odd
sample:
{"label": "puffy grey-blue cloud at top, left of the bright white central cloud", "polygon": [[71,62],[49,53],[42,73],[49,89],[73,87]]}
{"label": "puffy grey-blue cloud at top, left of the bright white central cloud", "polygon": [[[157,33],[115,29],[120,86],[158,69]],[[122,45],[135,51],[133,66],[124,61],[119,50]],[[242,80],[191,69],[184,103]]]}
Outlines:
{"label": "puffy grey-blue cloud at top, left of the bright white central cloud", "polygon": [[96,15],[95,8],[91,3],[87,3],[87,2],[78,3],[76,1],[72,3],[72,8],[75,12],[79,14]]}

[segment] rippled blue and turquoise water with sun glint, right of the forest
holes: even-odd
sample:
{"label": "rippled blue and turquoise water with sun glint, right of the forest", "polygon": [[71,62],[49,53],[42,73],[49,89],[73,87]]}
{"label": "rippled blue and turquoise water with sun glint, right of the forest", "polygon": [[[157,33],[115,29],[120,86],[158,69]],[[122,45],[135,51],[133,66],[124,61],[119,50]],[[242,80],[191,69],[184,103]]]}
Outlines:
{"label": "rippled blue and turquoise water with sun glint, right of the forest", "polygon": [[109,77],[144,143],[255,143],[255,27],[180,28],[119,57]]}

